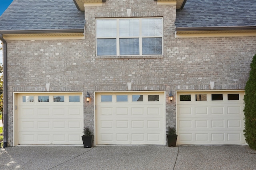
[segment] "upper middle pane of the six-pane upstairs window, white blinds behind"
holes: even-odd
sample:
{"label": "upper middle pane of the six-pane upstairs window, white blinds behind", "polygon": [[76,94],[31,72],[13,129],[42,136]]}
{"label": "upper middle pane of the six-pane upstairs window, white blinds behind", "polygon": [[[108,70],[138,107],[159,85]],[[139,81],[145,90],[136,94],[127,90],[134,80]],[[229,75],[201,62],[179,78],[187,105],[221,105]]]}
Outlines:
{"label": "upper middle pane of the six-pane upstairs window, white blinds behind", "polygon": [[139,19],[119,20],[120,37],[138,37],[139,35]]}

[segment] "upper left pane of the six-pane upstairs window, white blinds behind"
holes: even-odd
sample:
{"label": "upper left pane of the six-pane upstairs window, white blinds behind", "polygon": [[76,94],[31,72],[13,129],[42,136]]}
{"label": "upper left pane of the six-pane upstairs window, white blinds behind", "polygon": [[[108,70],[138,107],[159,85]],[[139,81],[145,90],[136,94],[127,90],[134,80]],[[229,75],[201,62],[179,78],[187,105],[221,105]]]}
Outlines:
{"label": "upper left pane of the six-pane upstairs window, white blinds behind", "polygon": [[96,20],[97,37],[116,37],[116,20]]}

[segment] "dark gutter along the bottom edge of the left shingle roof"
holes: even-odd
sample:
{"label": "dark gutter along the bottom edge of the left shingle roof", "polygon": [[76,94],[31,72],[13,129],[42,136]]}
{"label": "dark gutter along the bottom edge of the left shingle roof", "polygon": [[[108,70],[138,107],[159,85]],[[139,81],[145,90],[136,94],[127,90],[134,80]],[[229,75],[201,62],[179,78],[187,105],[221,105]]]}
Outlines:
{"label": "dark gutter along the bottom edge of the left shingle roof", "polygon": [[0,30],[1,34],[84,33],[84,29]]}

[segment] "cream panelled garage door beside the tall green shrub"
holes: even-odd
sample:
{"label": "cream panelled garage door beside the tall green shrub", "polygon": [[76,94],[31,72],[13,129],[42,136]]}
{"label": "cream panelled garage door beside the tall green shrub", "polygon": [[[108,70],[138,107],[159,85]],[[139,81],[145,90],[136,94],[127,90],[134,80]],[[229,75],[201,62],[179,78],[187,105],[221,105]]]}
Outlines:
{"label": "cream panelled garage door beside the tall green shrub", "polygon": [[178,144],[244,144],[244,92],[177,92]]}

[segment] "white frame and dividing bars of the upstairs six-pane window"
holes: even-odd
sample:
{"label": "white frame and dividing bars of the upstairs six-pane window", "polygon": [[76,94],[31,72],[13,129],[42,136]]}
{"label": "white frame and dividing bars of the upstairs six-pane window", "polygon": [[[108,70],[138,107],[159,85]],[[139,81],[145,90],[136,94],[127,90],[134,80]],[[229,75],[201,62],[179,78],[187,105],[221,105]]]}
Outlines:
{"label": "white frame and dividing bars of the upstairs six-pane window", "polygon": [[[143,56],[163,56],[164,54],[164,20],[162,17],[147,17],[148,19],[150,18],[155,18],[155,19],[162,19],[162,36],[143,36],[142,37],[142,19],[145,19],[145,18],[96,18],[95,20],[95,47],[96,47],[96,56],[101,58],[101,57],[117,57],[117,56],[120,56],[121,58],[126,58],[126,56],[140,56],[140,57],[143,57]],[[139,38],[139,55],[120,55],[120,45],[119,45],[119,39],[120,39],[120,36],[119,36],[119,20],[122,20],[122,19],[139,19],[139,29],[140,29],[140,35],[139,37],[121,37],[121,38]],[[97,20],[116,20],[116,37],[97,37]],[[161,37],[162,38],[162,54],[159,54],[159,55],[142,55],[142,38],[159,38]],[[97,39],[116,39],[116,55],[97,55]],[[151,58],[151,57],[150,57]],[[159,57],[157,57],[159,58]],[[162,57],[160,57],[162,58]]]}

